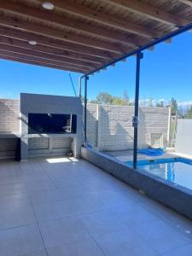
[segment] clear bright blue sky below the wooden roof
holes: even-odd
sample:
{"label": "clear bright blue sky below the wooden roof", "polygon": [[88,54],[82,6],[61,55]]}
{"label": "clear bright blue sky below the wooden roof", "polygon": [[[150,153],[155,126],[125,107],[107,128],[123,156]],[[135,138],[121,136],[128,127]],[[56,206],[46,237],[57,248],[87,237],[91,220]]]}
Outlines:
{"label": "clear bright blue sky below the wooden roof", "polygon": [[[192,100],[192,33],[185,32],[172,39],[172,44],[158,44],[154,51],[145,50],[141,63],[140,96],[148,99],[179,102]],[[93,99],[100,91],[122,96],[127,90],[134,96],[136,58],[120,61],[116,67],[90,76],[88,97]],[[19,98],[20,92],[73,96],[67,72],[0,60],[0,97]],[[79,75],[71,73],[78,90]]]}

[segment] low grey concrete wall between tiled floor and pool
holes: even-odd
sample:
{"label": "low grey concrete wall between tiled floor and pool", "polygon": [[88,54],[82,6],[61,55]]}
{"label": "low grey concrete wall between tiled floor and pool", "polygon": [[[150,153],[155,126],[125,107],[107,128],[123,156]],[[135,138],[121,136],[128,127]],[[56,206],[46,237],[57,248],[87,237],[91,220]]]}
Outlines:
{"label": "low grey concrete wall between tiled floor and pool", "polygon": [[103,171],[117,177],[119,180],[142,190],[155,201],[192,219],[192,191],[161,177],[154,176],[142,170],[133,170],[119,160],[96,152],[90,148],[81,148],[81,156]]}

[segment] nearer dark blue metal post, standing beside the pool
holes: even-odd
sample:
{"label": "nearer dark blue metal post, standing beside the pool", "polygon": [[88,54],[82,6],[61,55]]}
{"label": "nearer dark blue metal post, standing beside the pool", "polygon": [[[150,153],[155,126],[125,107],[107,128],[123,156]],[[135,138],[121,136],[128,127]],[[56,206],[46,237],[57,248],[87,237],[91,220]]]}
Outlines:
{"label": "nearer dark blue metal post, standing beside the pool", "polygon": [[135,92],[135,115],[132,119],[134,127],[134,146],[133,146],[133,167],[137,168],[137,127],[138,127],[138,110],[139,110],[139,82],[140,82],[140,61],[143,59],[143,53],[137,52],[136,65],[136,92]]}

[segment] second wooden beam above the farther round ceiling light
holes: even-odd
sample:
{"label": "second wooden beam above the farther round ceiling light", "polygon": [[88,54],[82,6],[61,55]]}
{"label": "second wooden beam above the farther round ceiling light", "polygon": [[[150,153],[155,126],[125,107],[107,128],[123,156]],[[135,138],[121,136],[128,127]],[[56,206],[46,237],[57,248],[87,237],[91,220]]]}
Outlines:
{"label": "second wooden beam above the farther round ceiling light", "polygon": [[3,26],[14,27],[15,30],[33,32],[38,35],[44,35],[49,38],[60,39],[62,41],[72,42],[78,45],[90,46],[94,49],[104,49],[105,51],[123,54],[125,53],[125,48],[119,46],[118,44],[112,44],[107,42],[102,42],[97,39],[92,39],[80,35],[75,35],[69,32],[64,32],[61,30],[55,30],[54,28],[50,28],[48,26],[38,25],[37,23],[29,23],[24,20],[20,20],[19,18],[11,18],[8,16],[0,16],[0,24]]}

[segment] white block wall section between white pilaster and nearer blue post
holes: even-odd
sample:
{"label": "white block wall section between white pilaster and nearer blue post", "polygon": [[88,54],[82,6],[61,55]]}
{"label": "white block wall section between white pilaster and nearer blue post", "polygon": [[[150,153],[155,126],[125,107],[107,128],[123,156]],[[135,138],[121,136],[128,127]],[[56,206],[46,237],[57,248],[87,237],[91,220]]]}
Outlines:
{"label": "white block wall section between white pilaster and nearer blue post", "polygon": [[133,146],[133,107],[101,106],[98,122],[100,150],[123,150]]}

